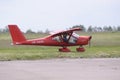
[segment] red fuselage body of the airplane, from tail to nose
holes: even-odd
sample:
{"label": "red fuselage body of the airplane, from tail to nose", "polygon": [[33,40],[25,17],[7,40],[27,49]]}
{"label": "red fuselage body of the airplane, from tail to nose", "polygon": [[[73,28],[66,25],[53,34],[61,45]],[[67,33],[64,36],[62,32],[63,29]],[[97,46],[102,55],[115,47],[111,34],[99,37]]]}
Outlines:
{"label": "red fuselage body of the airplane, from tail to nose", "polygon": [[87,45],[91,36],[80,36],[76,43],[69,42],[58,42],[53,40],[51,36],[45,38],[31,39],[23,42],[17,42],[16,45],[38,45],[38,46],[79,46],[79,45]]}

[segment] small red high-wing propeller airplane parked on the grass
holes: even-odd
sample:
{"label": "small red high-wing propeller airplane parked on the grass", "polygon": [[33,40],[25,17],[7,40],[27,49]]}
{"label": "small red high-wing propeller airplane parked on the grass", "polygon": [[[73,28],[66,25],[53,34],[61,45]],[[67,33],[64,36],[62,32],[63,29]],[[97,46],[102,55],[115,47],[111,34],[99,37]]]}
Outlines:
{"label": "small red high-wing propeller airplane parked on the grass", "polygon": [[38,46],[60,46],[60,52],[71,52],[68,46],[79,46],[77,52],[84,52],[83,45],[90,45],[92,36],[79,36],[75,31],[80,31],[80,28],[72,28],[69,30],[51,33],[43,38],[27,40],[17,25],[8,25],[9,32],[13,41],[13,45],[38,45]]}

